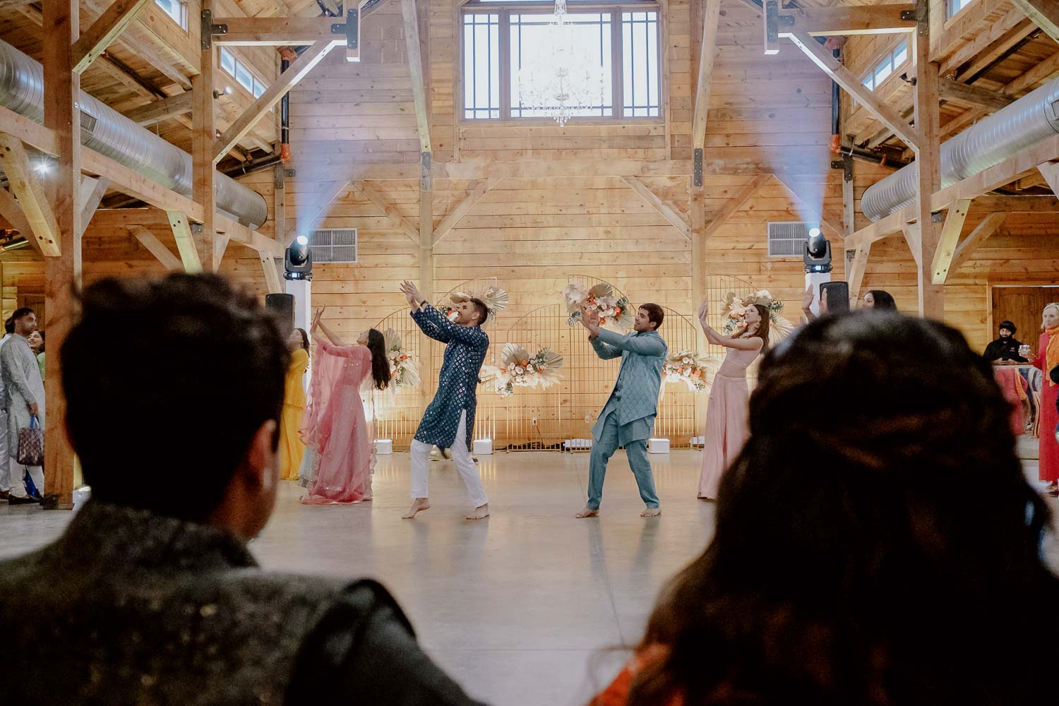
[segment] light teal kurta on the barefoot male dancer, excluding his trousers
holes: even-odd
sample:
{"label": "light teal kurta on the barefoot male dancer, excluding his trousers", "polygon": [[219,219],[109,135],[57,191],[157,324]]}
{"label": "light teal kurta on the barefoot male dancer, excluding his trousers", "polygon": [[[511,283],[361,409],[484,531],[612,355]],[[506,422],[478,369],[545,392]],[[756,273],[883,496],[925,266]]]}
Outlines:
{"label": "light teal kurta on the barefoot male dancer, excluding his trousers", "polygon": [[668,347],[656,331],[622,336],[599,329],[599,336],[589,339],[603,360],[622,357],[622,367],[610,399],[592,428],[599,440],[607,416],[617,415],[617,442],[625,446],[650,437],[658,414],[659,388],[662,386],[662,365]]}

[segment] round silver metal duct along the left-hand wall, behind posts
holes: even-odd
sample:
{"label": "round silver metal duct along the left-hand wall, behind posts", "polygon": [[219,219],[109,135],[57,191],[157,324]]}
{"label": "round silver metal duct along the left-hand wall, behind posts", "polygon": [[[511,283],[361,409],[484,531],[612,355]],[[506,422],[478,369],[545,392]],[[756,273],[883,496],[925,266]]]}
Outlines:
{"label": "round silver metal duct along the left-hand wall, behind posts", "polygon": [[[41,66],[0,41],[0,106],[38,123],[44,122]],[[142,128],[118,111],[80,92],[80,143],[157,181],[192,195],[192,156]],[[222,174],[214,176],[217,210],[256,229],[268,217],[265,197]]]}

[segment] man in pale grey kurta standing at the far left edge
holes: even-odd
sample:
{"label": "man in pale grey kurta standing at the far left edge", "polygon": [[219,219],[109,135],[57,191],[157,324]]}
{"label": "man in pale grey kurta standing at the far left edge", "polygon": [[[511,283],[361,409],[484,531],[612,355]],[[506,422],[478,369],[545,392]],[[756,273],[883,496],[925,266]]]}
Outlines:
{"label": "man in pale grey kurta standing at the far left edge", "polygon": [[[40,379],[40,366],[30,348],[30,334],[37,330],[37,315],[33,309],[17,309],[12,319],[15,334],[0,348],[0,370],[7,402],[7,453],[8,475],[20,481],[24,473],[36,486],[38,493],[44,492],[44,471],[39,466],[25,467],[15,460],[18,455],[18,430],[30,426],[33,417],[39,428],[44,429],[44,381]],[[12,484],[8,503],[25,502],[25,487],[20,482]]]}

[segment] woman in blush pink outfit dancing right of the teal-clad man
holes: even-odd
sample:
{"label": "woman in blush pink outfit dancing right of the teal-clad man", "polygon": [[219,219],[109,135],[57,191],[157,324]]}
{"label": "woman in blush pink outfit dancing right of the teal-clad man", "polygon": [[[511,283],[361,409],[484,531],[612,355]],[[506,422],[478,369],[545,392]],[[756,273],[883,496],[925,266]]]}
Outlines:
{"label": "woman in blush pink outfit dancing right of the teal-clad man", "polygon": [[721,474],[750,436],[747,423],[750,401],[747,367],[769,345],[769,310],[760,304],[751,306],[747,309],[742,327],[732,336],[721,336],[711,328],[706,323],[708,313],[708,305],[703,302],[699,307],[699,323],[706,340],[729,349],[710,390],[702,475],[699,476],[699,497],[717,500]]}

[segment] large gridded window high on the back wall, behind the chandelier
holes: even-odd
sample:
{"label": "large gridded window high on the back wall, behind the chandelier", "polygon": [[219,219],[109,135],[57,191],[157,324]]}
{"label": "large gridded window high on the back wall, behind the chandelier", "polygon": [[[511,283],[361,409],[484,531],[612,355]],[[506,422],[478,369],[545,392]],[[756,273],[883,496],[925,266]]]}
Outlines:
{"label": "large gridded window high on the back wall, behind the chandelier", "polygon": [[[527,0],[530,1],[530,0]],[[510,3],[510,0],[479,0]],[[540,0],[551,5],[552,0]],[[540,57],[552,13],[513,7],[500,13],[463,14],[464,120],[550,117],[548,109],[523,106],[519,73]],[[574,46],[599,61],[602,95],[596,105],[574,110],[577,117],[661,115],[660,24],[657,11],[567,15]],[[617,43],[615,43],[617,42]],[[614,55],[614,52],[617,52]],[[501,56],[503,53],[505,56]],[[506,66],[501,62],[506,62]],[[616,64],[614,64],[616,61]],[[584,66],[584,65],[582,65]],[[503,69],[503,70],[501,70]],[[615,75],[620,73],[621,77]],[[617,79],[615,85],[615,79]],[[616,103],[615,103],[616,102]],[[621,105],[617,112],[616,105]]]}

